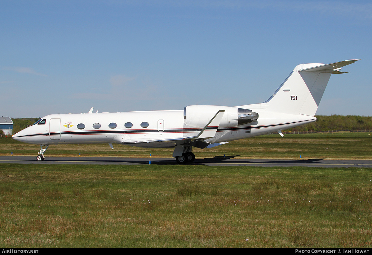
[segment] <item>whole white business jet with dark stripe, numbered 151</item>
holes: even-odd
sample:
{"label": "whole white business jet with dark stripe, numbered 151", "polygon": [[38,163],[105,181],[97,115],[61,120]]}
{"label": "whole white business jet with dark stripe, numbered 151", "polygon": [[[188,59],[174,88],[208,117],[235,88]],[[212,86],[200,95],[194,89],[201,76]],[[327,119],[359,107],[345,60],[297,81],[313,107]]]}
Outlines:
{"label": "whole white business jet with dark stripe, numbered 151", "polygon": [[[192,147],[211,148],[242,138],[294,128],[317,120],[314,115],[331,74],[360,59],[332,64],[301,64],[265,102],[243,106],[192,105],[183,110],[52,114],[13,135],[40,145],[37,160],[51,144],[112,143],[174,148],[180,164],[192,162]],[[45,147],[45,148],[44,148]]]}

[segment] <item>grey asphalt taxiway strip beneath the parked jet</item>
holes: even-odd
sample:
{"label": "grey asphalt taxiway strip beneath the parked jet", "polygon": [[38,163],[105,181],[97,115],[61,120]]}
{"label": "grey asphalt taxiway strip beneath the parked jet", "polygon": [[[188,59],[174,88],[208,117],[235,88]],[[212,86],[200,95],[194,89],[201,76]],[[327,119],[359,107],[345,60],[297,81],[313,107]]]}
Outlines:
{"label": "grey asphalt taxiway strip beneath the parked jet", "polygon": [[[0,156],[0,164],[79,164],[79,165],[176,165],[174,158],[54,157],[36,161],[36,156]],[[193,165],[255,167],[372,167],[372,160],[238,159],[234,156],[195,159]]]}

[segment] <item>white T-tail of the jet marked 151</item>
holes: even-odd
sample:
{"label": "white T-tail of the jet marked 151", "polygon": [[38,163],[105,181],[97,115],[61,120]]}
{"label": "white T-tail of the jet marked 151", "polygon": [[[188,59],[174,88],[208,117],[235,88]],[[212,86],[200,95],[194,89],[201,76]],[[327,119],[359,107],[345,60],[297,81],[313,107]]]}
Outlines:
{"label": "white T-tail of the jet marked 151", "polygon": [[341,67],[360,59],[332,64],[301,64],[289,74],[278,90],[266,102],[272,112],[314,116],[331,74],[344,74]]}

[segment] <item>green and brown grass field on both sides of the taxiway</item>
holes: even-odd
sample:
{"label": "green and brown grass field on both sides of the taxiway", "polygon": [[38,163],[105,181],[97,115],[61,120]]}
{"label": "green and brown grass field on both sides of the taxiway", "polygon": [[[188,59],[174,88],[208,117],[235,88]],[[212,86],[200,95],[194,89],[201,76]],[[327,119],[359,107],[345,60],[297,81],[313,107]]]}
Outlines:
{"label": "green and brown grass field on both sides of the taxiway", "polygon": [[[0,139],[0,154],[38,145]],[[114,145],[115,146],[115,145]],[[371,159],[368,133],[266,135],[196,156]],[[46,156],[170,157],[56,145]],[[0,246],[371,247],[370,168],[0,164]]]}

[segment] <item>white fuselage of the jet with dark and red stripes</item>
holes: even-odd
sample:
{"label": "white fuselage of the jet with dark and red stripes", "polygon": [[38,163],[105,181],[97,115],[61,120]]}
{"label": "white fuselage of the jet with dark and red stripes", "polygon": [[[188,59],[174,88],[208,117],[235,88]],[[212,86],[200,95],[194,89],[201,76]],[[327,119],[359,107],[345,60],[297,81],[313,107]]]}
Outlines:
{"label": "white fuselage of the jet with dark and red stripes", "polygon": [[[253,105],[252,105],[253,106]],[[243,106],[246,109],[250,105]],[[214,106],[215,109],[224,110],[235,107]],[[236,108],[237,109],[237,108]],[[246,125],[237,125],[229,112],[224,113],[216,135],[206,142],[218,143],[263,135],[279,130],[285,130],[299,125],[304,125],[316,120],[315,117],[295,114],[268,112],[266,109],[252,109],[259,114],[259,119]],[[231,114],[230,114],[231,115]],[[41,145],[68,144],[68,143],[130,143],[139,147],[163,147],[161,143],[151,143],[151,140],[167,140],[187,138],[198,135],[204,128],[205,122],[211,119],[210,114],[199,119],[198,126],[185,124],[183,110],[170,111],[142,111],[118,113],[81,113],[81,114],[52,114],[43,117],[45,124],[33,125],[21,130],[13,136],[14,139]],[[55,123],[60,122],[60,130]],[[124,124],[131,122],[131,128]],[[149,126],[142,128],[141,123],[147,122]],[[234,122],[235,125],[232,125]],[[84,129],[77,125],[83,123]],[[100,128],[94,129],[93,124],[99,123]],[[116,128],[109,128],[110,123],[116,123]],[[54,128],[53,130],[51,130]],[[144,142],[145,141],[145,142]],[[144,142],[144,143],[142,143]],[[173,147],[166,145],[165,147]]]}

